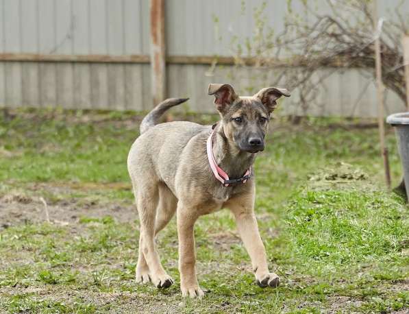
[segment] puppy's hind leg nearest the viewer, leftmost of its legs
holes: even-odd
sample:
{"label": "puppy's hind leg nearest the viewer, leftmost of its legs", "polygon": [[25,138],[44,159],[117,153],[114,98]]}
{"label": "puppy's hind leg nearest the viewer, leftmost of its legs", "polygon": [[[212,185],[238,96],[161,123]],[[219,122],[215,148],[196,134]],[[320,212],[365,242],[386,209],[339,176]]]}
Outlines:
{"label": "puppy's hind leg nearest the viewer, leftmost of its legs", "polygon": [[[139,241],[139,259],[136,266],[136,274],[138,270],[146,271],[145,264],[149,267],[149,273],[153,285],[158,288],[167,288],[172,285],[172,278],[166,274],[160,258],[156,250],[155,244],[155,225],[156,225],[156,208],[158,206],[158,184],[148,181],[146,184],[138,186],[136,202],[140,219],[140,241]],[[145,261],[143,260],[145,257]],[[143,274],[142,274],[143,278]],[[137,278],[138,280],[138,278]],[[145,282],[145,280],[143,280]]]}

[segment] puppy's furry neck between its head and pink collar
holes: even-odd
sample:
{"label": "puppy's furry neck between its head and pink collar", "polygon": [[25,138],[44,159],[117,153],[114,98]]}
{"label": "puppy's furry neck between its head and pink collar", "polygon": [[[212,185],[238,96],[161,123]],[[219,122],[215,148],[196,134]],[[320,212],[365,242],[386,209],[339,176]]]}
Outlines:
{"label": "puppy's furry neck between its head and pink collar", "polygon": [[238,149],[237,145],[225,136],[221,123],[216,125],[213,154],[217,165],[227,173],[230,179],[243,177],[256,159],[256,154]]}

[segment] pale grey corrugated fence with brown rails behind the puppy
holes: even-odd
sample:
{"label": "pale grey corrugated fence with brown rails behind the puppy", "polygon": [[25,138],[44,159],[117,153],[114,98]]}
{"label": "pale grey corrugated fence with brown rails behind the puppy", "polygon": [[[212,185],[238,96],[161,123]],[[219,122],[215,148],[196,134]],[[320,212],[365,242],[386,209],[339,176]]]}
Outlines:
{"label": "pale grey corrugated fence with brown rails behind the puppy", "polygon": [[[233,39],[253,36],[262,2],[0,0],[0,106],[149,110],[162,97],[190,97],[184,110],[214,112],[208,83],[230,82],[244,94],[275,75],[251,67],[251,60],[238,69],[232,58]],[[381,14],[398,2],[380,1]],[[277,32],[286,3],[265,8]],[[335,73],[307,114],[375,117],[370,80],[358,69]],[[298,104],[293,90],[281,113],[303,114]],[[403,109],[386,94],[386,113]]]}

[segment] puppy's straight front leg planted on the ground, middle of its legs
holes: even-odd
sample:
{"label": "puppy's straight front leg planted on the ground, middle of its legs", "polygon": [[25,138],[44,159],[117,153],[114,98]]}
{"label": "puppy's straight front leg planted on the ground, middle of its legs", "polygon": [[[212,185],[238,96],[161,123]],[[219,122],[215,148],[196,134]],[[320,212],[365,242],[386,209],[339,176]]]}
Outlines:
{"label": "puppy's straight front leg planted on the ground, middle of its legs", "polygon": [[203,291],[196,277],[195,235],[193,227],[197,215],[193,208],[177,204],[177,236],[179,238],[180,289],[184,297],[201,298]]}

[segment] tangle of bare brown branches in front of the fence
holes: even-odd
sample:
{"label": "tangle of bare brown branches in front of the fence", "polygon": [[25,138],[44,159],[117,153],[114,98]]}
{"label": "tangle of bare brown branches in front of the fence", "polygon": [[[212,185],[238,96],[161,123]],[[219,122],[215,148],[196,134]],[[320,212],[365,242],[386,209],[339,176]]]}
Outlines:
{"label": "tangle of bare brown branches in front of the fence", "polygon": [[[314,97],[319,95],[312,93],[312,90],[317,90],[330,75],[340,69],[350,67],[364,69],[373,77],[375,74],[373,42],[377,34],[373,32],[371,1],[326,0],[329,11],[325,14],[314,10],[310,2],[306,4],[300,1],[304,5],[302,8],[306,12],[305,15],[308,14],[308,19],[299,14],[288,14],[284,30],[280,34],[273,38],[258,40],[256,45],[258,55],[254,58],[258,60],[256,64],[274,68],[275,71],[276,60],[288,60],[289,65],[302,64],[303,67],[299,68],[280,68],[280,74],[275,81],[285,81],[287,86],[297,88],[302,102],[301,108],[306,110],[310,102],[314,101]],[[402,4],[403,0],[395,8],[395,19],[384,21],[380,45],[384,86],[405,100],[400,38],[408,32],[409,19],[399,10]],[[263,34],[263,29],[258,29],[258,34]],[[336,69],[327,71],[330,64],[336,64]],[[357,101],[360,97],[362,96],[360,95]]]}

